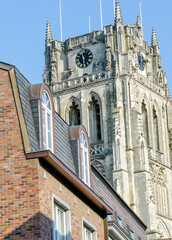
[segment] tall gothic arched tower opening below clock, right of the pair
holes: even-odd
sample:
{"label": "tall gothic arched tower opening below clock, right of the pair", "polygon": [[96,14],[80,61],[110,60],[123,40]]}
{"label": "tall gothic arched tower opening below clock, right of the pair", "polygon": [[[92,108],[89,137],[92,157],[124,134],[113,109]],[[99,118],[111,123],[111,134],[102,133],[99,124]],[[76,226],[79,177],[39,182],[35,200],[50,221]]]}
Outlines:
{"label": "tall gothic arched tower opening below clock, right of the pair", "polygon": [[90,143],[94,144],[102,140],[101,134],[101,106],[96,96],[92,96],[88,106]]}

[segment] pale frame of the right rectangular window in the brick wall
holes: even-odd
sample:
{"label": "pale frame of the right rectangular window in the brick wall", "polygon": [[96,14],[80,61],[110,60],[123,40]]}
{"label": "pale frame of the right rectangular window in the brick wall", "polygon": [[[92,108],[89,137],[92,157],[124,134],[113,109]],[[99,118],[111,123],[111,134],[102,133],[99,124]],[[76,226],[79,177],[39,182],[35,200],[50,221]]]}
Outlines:
{"label": "pale frame of the right rectangular window in the brick wall", "polygon": [[97,240],[97,229],[89,221],[82,217],[82,240],[86,239],[86,230],[91,233],[91,240]]}

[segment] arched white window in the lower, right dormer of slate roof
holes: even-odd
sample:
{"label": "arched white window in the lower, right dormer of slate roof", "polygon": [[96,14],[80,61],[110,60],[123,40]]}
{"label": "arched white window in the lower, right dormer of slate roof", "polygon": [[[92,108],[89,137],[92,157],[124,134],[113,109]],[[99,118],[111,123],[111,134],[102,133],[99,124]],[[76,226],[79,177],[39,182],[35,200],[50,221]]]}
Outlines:
{"label": "arched white window in the lower, right dormer of slate roof", "polygon": [[90,185],[90,174],[89,174],[89,159],[88,159],[88,144],[86,136],[83,132],[80,134],[80,149],[81,149],[81,178],[82,181]]}

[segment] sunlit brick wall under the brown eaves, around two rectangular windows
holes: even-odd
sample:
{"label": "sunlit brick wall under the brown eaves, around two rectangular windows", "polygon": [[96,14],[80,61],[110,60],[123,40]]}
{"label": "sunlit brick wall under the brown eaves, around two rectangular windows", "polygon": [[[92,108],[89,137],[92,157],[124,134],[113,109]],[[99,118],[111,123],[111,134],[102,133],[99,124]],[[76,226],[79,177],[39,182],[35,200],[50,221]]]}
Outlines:
{"label": "sunlit brick wall under the brown eaves, around two rectangular windows", "polygon": [[[44,179],[44,171],[46,172],[46,179]],[[44,223],[41,231],[42,239],[51,239],[49,234],[52,231],[52,193],[70,206],[72,240],[82,239],[82,217],[96,227],[97,240],[105,239],[103,219],[84,202],[84,199],[81,200],[77,193],[71,191],[70,185],[63,184],[65,179],[57,172],[53,172],[53,174],[52,172],[53,169],[40,165],[40,209],[43,216],[42,222]],[[74,197],[76,197],[76,204],[74,203]],[[89,215],[88,209],[90,211]],[[101,219],[101,224],[99,219]]]}

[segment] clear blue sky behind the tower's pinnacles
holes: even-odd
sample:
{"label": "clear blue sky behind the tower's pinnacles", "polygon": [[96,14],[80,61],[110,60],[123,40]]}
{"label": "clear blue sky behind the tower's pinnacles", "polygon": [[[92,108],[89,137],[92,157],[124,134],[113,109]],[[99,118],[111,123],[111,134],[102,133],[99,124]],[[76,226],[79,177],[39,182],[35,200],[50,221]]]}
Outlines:
{"label": "clear blue sky behind the tower's pinnacles", "polygon": [[[63,40],[99,30],[99,0],[61,0]],[[124,24],[136,22],[139,0],[120,0]],[[103,25],[113,24],[113,0],[102,0]],[[172,1],[142,0],[144,40],[151,43],[156,28],[163,68],[172,94]],[[46,21],[51,24],[53,39],[60,40],[59,0],[1,1],[0,61],[14,64],[31,82],[42,82]]]}

